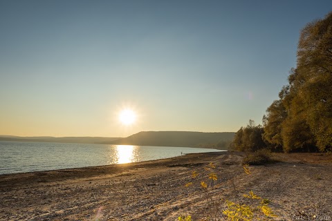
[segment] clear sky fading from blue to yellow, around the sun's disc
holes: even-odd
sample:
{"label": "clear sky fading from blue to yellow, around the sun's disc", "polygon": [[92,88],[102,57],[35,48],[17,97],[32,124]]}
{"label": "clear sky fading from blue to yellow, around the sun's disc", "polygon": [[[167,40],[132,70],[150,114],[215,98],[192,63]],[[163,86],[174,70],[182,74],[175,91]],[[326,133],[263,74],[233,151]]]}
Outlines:
{"label": "clear sky fading from blue to yellow, around the sun's disc", "polygon": [[[261,124],[332,1],[0,0],[0,135]],[[130,109],[136,122],[119,121]]]}

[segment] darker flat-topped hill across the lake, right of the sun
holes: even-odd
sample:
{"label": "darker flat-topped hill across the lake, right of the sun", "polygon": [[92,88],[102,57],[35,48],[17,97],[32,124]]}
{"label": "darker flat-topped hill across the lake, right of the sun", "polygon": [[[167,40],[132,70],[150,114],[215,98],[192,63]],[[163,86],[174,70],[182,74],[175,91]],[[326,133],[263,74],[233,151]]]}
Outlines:
{"label": "darker flat-topped hill across the lake, right of the sun", "polygon": [[[203,133],[187,131],[142,131],[111,144],[141,146],[187,146],[227,149],[235,133]],[[103,142],[106,144],[107,142]]]}

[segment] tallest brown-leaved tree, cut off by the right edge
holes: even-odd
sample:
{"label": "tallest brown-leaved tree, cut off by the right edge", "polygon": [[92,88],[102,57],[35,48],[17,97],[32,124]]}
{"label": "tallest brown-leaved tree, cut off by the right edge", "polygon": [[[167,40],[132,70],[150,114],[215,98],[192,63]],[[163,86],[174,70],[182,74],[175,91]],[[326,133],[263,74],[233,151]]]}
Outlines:
{"label": "tallest brown-leaved tree, cut off by the right edge", "polygon": [[297,70],[305,83],[299,89],[306,107],[306,122],[315,144],[332,147],[332,12],[302,30],[297,49]]}

